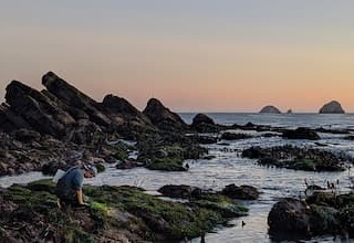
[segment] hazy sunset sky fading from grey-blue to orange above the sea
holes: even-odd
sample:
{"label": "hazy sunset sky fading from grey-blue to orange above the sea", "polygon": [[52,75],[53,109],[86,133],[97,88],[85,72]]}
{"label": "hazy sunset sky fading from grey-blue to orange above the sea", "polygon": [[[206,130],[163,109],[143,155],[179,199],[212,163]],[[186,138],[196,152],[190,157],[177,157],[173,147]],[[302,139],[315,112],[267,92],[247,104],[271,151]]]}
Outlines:
{"label": "hazy sunset sky fading from grey-blue to orange above the sea", "polygon": [[0,101],[53,71],[144,109],[354,112],[353,0],[0,0]]}

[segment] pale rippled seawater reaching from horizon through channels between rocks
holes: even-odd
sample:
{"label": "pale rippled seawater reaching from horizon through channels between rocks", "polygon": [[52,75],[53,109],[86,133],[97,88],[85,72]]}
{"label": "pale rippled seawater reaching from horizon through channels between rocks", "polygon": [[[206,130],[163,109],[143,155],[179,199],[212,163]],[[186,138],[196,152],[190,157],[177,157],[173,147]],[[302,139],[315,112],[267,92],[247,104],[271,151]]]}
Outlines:
{"label": "pale rippled seawater reaching from horizon through channels between rocks", "polygon": [[[179,114],[186,123],[190,124],[196,114]],[[236,114],[210,113],[207,114],[216,123],[244,125],[249,122],[257,125],[271,125],[274,127],[324,127],[353,129],[354,114],[345,115],[319,115],[319,114]],[[92,184],[131,184],[142,187],[148,191],[156,191],[165,184],[190,184],[206,189],[222,189],[230,183],[250,184],[262,192],[257,201],[242,202],[250,209],[249,215],[232,220],[230,228],[216,229],[216,233],[206,235],[206,242],[272,242],[268,235],[267,216],[271,207],[283,197],[299,197],[303,193],[304,179],[319,186],[325,186],[326,180],[340,180],[340,190],[350,191],[350,170],[344,172],[304,172],[288,169],[274,169],[260,167],[256,160],[241,158],[240,154],[250,146],[272,147],[278,145],[296,145],[319,147],[335,152],[354,156],[354,142],[343,139],[347,135],[320,134],[321,140],[285,140],[281,137],[262,137],[257,131],[240,131],[254,135],[253,138],[228,141],[228,145],[210,145],[209,154],[216,157],[211,160],[188,161],[189,170],[186,172],[158,172],[144,168],[132,170],[117,170],[114,166],[100,173]],[[324,146],[325,145],[325,146]],[[27,182],[40,177],[39,173],[28,173],[20,177],[0,178],[0,186],[7,187],[13,182]],[[241,226],[241,221],[246,225]],[[199,242],[195,239],[191,242]],[[354,240],[353,240],[354,241]],[[333,237],[313,239],[310,242],[333,242]],[[339,241],[340,242],[340,241]]]}

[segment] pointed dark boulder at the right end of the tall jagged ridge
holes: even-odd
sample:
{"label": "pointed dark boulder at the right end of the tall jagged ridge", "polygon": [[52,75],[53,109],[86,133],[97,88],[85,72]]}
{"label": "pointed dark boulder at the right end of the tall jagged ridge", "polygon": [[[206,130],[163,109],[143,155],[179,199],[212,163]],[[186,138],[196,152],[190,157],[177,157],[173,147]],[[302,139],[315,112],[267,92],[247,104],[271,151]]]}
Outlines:
{"label": "pointed dark boulder at the right end of the tall jagged ridge", "polygon": [[143,113],[162,130],[184,130],[188,128],[187,124],[176,113],[169,110],[156,98],[148,101]]}

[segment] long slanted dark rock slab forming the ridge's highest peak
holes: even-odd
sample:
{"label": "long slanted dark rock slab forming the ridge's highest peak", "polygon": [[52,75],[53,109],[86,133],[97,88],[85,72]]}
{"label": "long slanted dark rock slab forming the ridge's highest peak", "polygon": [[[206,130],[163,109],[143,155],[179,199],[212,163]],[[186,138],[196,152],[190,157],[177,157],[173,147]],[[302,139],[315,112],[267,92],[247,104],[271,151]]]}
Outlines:
{"label": "long slanted dark rock slab forming the ridge's highest peak", "polygon": [[75,107],[86,113],[93,123],[104,127],[111,125],[111,119],[100,110],[98,103],[60,78],[53,72],[43,75],[42,84],[66,106]]}

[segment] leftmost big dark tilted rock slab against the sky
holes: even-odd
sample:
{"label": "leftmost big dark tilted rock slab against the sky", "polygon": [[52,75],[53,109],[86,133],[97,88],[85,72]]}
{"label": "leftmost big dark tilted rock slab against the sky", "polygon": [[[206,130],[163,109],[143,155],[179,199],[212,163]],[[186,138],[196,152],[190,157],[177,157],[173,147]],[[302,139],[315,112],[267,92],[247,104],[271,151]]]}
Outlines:
{"label": "leftmost big dark tilted rock slab against the sky", "polygon": [[62,137],[66,128],[75,124],[74,118],[55,102],[19,81],[7,86],[6,101],[17,115],[41,134]]}

